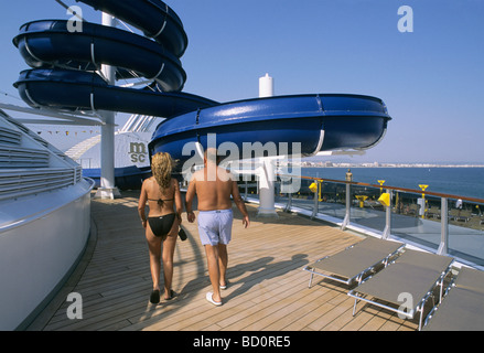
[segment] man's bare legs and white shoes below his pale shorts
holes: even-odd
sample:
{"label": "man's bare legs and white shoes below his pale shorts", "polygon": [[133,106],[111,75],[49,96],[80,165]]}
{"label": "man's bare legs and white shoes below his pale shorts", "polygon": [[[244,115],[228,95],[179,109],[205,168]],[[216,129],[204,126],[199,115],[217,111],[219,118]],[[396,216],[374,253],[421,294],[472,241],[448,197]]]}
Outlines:
{"label": "man's bare legs and white shoes below his pale shorts", "polygon": [[227,245],[205,245],[207,257],[208,276],[211,278],[212,288],[214,289],[212,299],[222,302],[221,285],[225,286],[225,275],[227,272]]}

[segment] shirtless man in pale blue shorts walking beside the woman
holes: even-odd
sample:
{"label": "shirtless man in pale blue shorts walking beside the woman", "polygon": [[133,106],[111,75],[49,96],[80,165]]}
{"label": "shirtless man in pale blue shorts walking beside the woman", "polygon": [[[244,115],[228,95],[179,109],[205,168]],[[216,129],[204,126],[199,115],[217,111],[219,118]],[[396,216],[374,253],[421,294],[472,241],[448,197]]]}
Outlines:
{"label": "shirtless man in pale blue shorts walking beside the woman", "polygon": [[243,224],[250,224],[249,215],[238,191],[234,175],[217,165],[216,149],[207,149],[204,169],[192,175],[186,191],[186,213],[189,222],[195,221],[192,204],[196,194],[198,201],[198,234],[207,257],[208,275],[213,291],[206,299],[214,306],[222,306],[221,289],[227,288],[228,264],[227,244],[232,238],[232,200],[243,214]]}

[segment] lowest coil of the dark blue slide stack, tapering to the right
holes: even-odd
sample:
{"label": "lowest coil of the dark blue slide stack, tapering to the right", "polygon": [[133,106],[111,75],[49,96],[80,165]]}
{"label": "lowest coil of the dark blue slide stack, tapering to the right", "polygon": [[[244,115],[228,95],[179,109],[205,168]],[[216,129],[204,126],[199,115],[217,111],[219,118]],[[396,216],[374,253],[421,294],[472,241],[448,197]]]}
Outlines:
{"label": "lowest coil of the dark blue slide stack, tapering to the right", "polygon": [[21,98],[32,107],[66,110],[114,110],[171,117],[216,103],[200,96],[110,86],[92,72],[37,68],[23,71],[15,82]]}

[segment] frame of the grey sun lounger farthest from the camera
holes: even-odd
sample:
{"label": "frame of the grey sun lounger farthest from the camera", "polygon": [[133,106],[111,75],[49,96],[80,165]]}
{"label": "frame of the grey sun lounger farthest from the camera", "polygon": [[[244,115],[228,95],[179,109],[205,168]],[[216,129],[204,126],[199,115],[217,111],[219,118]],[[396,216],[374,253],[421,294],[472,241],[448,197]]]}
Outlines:
{"label": "frame of the grey sun lounger farthest from the camera", "polygon": [[[377,238],[377,239],[378,239],[378,238]],[[366,239],[364,239],[364,240],[362,240],[362,242],[365,242],[365,240],[366,240]],[[378,239],[378,240],[380,240],[380,242],[391,242],[391,240],[381,240],[381,239]],[[319,264],[319,263],[321,263],[321,261],[323,261],[323,260],[325,260],[325,259],[329,259],[329,258],[331,258],[331,257],[333,257],[333,256],[335,256],[335,255],[340,255],[340,254],[343,254],[344,252],[347,252],[347,250],[349,250],[349,249],[353,249],[354,247],[358,246],[362,242],[355,243],[355,244],[353,244],[353,245],[346,247],[345,249],[343,249],[342,252],[340,252],[340,253],[337,253],[337,254],[329,255],[329,256],[322,257],[322,258],[318,259],[315,263],[313,263],[312,265],[308,265],[308,266],[305,266],[305,267],[303,268],[303,270],[305,270],[305,271],[308,271],[308,272],[311,274],[311,277],[310,277],[310,280],[309,280],[309,285],[308,285],[308,287],[311,288],[311,285],[312,285],[312,280],[313,280],[313,278],[314,278],[314,275],[316,275],[316,276],[322,276],[322,277],[324,277],[324,278],[327,278],[327,279],[331,279],[331,280],[334,280],[334,281],[337,281],[337,282],[344,284],[344,285],[346,285],[346,286],[352,285],[354,281],[356,281],[356,284],[359,284],[359,282],[363,280],[363,278],[364,278],[365,275],[376,272],[376,270],[377,270],[378,267],[383,267],[383,268],[385,268],[385,267],[388,265],[388,261],[389,261],[391,258],[394,258],[395,256],[397,256],[397,254],[398,254],[399,252],[401,252],[401,249],[405,247],[405,244],[404,244],[404,243],[394,242],[395,245],[396,245],[394,252],[387,253],[387,254],[385,254],[385,255],[383,254],[383,255],[381,255],[381,258],[379,258],[376,263],[372,264],[370,266],[368,266],[368,267],[366,267],[366,268],[363,268],[363,269],[362,269],[356,276],[352,276],[352,277],[345,277],[345,276],[343,276],[343,275],[341,275],[341,274],[333,274],[333,272],[332,272],[331,275],[327,275],[327,274],[324,274],[324,272],[318,270],[318,269],[314,267],[314,265],[316,265],[316,264]]]}

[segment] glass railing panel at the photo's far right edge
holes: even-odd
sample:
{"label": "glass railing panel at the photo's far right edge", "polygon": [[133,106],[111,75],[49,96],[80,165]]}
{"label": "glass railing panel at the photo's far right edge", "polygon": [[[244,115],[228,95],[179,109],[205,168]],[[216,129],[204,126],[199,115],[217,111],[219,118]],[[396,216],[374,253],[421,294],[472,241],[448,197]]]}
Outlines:
{"label": "glass railing panel at the photo's far right edge", "polygon": [[484,204],[449,199],[449,255],[484,266]]}

